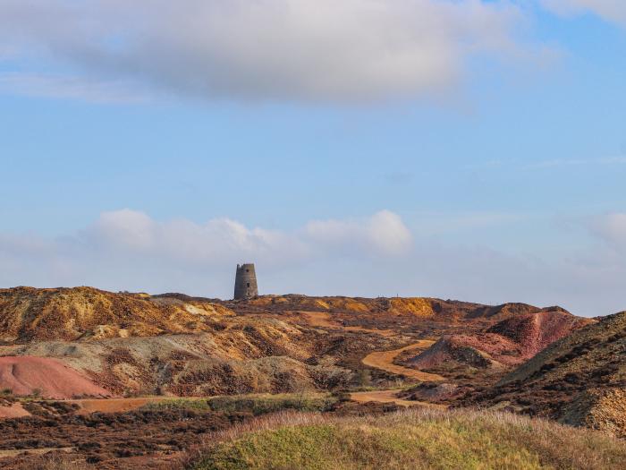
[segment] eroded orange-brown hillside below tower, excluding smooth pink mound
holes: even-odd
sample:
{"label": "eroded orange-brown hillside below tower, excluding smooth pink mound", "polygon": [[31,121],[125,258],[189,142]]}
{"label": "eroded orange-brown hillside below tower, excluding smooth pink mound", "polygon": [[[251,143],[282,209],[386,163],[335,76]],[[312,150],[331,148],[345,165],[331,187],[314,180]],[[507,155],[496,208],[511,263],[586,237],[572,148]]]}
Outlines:
{"label": "eroded orange-brown hillside below tower, excluding smooth pink mound", "polygon": [[444,376],[437,387],[452,399],[587,321],[524,303],[304,295],[223,302],[19,287],[0,290],[0,355],[53,358],[114,396],[392,388]]}

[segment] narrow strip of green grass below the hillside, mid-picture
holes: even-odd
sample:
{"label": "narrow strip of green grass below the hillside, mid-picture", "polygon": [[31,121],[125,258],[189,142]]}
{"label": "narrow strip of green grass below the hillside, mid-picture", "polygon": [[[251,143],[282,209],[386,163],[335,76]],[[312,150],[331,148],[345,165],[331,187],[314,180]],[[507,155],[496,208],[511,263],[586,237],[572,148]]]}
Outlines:
{"label": "narrow strip of green grass below the hillside, mid-picture", "polygon": [[277,395],[235,395],[210,398],[173,398],[149,403],[144,409],[191,409],[196,411],[221,411],[224,413],[249,412],[255,415],[282,410],[325,411],[337,398],[326,393],[284,393]]}

